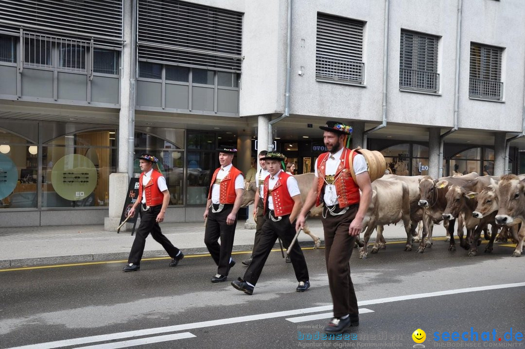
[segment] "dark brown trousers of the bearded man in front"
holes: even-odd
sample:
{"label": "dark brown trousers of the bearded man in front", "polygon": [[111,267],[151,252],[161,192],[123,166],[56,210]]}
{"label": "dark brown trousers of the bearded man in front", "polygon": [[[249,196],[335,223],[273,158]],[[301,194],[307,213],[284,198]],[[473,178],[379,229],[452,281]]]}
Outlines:
{"label": "dark brown trousers of the bearded man in front", "polygon": [[332,216],[326,213],[327,218],[322,219],[328,282],[332,294],[333,316],[336,318],[346,314],[350,314],[352,319],[359,316],[358,300],[350,277],[350,256],[355,237],[348,234],[358,208],[358,204],[352,205],[343,215]]}

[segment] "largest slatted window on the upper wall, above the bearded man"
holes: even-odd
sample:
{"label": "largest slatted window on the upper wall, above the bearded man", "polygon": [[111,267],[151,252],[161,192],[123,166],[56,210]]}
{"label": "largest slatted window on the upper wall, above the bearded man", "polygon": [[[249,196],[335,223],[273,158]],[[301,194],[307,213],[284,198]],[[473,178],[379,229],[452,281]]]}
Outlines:
{"label": "largest slatted window on the upper wall, above the bearded man", "polygon": [[317,79],[364,82],[363,28],[359,20],[317,14]]}

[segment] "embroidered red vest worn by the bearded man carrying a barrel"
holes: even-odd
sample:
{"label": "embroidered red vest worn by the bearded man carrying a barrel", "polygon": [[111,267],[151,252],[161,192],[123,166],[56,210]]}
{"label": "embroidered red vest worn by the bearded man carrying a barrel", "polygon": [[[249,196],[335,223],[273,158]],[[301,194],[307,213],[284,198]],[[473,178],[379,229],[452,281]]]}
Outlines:
{"label": "embroidered red vest worn by the bearded man carrying a barrel", "polygon": [[[350,160],[348,156],[350,155],[349,149],[344,149],[341,154],[341,162],[337,171],[335,171],[335,189],[337,190],[337,195],[339,196],[339,208],[344,208],[353,204],[358,204],[361,198],[359,194],[359,186],[354,182],[352,175],[350,173],[350,166],[353,166],[354,157],[356,152],[353,153],[352,159]],[[328,160],[330,153],[323,153],[317,158],[317,202],[316,206],[321,204],[321,189],[325,185],[324,176],[326,171],[326,161]],[[344,161],[346,159],[346,161]],[[344,166],[343,166],[344,163]]]}

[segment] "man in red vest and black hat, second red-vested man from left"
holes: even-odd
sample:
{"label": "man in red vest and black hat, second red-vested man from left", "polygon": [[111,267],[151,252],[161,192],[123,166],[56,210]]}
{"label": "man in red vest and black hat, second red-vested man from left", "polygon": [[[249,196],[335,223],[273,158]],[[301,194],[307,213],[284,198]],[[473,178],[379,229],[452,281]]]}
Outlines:
{"label": "man in red vest and black hat, second red-vested man from left", "polygon": [[237,149],[223,147],[217,151],[220,167],[213,173],[209,186],[208,201],[203,215],[207,222],[204,243],[218,266],[212,282],[223,282],[226,281],[230,268],[235,265],[232,248],[237,212],[244,191],[244,176],[232,165]]}

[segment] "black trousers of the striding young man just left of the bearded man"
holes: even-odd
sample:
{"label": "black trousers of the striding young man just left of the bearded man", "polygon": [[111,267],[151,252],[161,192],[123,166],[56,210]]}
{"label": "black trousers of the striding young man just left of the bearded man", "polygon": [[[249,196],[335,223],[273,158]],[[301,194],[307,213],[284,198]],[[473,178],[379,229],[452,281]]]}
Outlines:
{"label": "black trousers of the striding young man just left of the bearded man", "polygon": [[[279,237],[282,240],[283,245],[290,246],[290,242],[296,234],[295,223],[290,223],[290,215],[282,216],[281,220],[277,222],[268,218],[268,213],[265,216],[265,223],[262,226],[260,239],[254,250],[253,260],[244,273],[244,281],[254,286],[259,280],[262,268],[277,238]],[[298,241],[293,244],[290,251],[290,259],[297,281],[308,281],[310,279],[308,267]]]}

